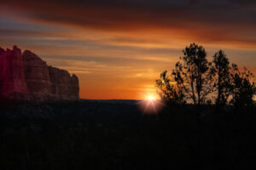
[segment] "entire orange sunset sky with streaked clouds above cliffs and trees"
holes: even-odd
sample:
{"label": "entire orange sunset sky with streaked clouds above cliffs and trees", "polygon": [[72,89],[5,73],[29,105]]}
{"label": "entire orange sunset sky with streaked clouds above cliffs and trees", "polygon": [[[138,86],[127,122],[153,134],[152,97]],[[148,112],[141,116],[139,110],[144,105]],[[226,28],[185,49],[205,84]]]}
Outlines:
{"label": "entire orange sunset sky with streaked clouds above cliffs and trees", "polygon": [[195,42],[256,73],[255,0],[0,0],[0,47],[79,77],[81,99],[144,99]]}

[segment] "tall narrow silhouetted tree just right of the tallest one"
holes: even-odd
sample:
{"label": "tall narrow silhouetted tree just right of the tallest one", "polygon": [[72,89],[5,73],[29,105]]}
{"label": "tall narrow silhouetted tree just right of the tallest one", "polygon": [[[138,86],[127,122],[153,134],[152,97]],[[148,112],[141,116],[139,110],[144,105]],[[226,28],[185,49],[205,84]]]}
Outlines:
{"label": "tall narrow silhouetted tree just right of the tallest one", "polygon": [[226,105],[230,96],[230,61],[222,50],[213,56],[211,75],[214,81],[212,88],[217,92],[215,103],[218,106]]}

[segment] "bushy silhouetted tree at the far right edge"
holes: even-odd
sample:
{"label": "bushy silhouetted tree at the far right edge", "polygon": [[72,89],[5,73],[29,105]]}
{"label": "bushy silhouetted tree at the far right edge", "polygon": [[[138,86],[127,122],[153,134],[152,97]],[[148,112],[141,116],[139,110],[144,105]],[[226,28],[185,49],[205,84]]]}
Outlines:
{"label": "bushy silhouetted tree at the far right edge", "polygon": [[231,104],[236,107],[253,105],[253,96],[256,94],[256,82],[253,82],[253,77],[253,73],[246,67],[239,71],[237,65],[232,65]]}

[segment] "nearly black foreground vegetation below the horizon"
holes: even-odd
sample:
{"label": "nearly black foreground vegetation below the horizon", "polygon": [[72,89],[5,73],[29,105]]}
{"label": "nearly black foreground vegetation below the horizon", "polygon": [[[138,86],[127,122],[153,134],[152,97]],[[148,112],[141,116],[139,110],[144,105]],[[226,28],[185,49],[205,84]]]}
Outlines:
{"label": "nearly black foreground vegetation below the horizon", "polygon": [[1,106],[0,169],[255,167],[256,109],[102,102]]}

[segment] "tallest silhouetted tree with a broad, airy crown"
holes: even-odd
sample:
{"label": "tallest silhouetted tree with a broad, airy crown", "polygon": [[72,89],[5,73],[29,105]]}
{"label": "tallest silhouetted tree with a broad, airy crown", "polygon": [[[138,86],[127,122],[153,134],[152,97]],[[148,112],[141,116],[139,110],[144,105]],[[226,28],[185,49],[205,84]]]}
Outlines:
{"label": "tallest silhouetted tree with a broad, airy crown", "polygon": [[207,52],[202,46],[191,43],[183,49],[183,63],[177,62],[172,71],[177,84],[182,86],[186,97],[195,105],[202,105],[206,102],[207,95],[212,92],[209,78],[209,63]]}

